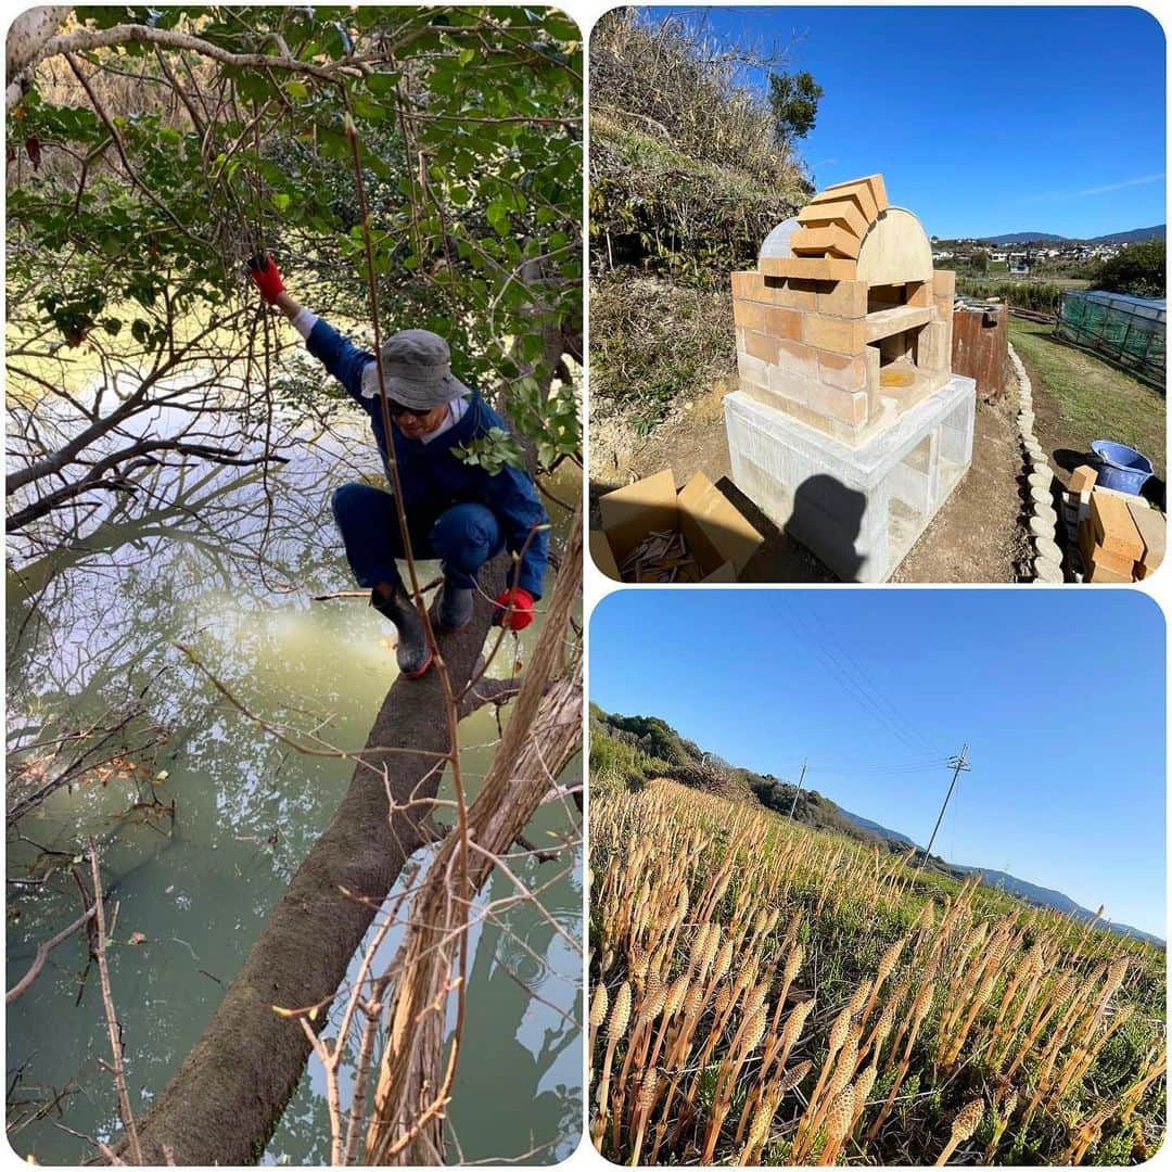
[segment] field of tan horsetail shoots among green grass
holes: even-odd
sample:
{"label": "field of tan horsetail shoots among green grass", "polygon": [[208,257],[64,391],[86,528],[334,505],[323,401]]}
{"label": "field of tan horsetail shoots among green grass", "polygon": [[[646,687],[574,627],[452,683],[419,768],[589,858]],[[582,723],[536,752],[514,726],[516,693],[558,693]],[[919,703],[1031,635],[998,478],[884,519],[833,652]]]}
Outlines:
{"label": "field of tan horsetail shoots among green grass", "polygon": [[591,806],[590,1129],[622,1164],[1140,1163],[1165,954],[670,781]]}

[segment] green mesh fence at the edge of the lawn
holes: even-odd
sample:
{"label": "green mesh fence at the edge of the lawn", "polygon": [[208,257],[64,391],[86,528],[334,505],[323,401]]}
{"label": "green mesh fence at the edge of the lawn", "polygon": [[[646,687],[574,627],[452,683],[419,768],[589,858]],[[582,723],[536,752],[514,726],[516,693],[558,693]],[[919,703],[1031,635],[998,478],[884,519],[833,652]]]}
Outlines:
{"label": "green mesh fence at the edge of the lawn", "polygon": [[1165,309],[1163,302],[1108,293],[1063,292],[1054,332],[1164,389]]}

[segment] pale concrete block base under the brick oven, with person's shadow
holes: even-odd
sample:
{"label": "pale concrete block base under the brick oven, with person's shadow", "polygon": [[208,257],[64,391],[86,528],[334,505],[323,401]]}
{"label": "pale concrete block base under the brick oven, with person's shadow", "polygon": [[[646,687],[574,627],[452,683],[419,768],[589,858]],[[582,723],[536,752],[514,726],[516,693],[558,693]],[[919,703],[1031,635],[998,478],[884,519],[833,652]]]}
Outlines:
{"label": "pale concrete block base under the brick oven, with person's shadow", "polygon": [[953,375],[852,448],[735,391],[732,481],[844,581],[886,581],[968,470],[975,411],[975,380]]}

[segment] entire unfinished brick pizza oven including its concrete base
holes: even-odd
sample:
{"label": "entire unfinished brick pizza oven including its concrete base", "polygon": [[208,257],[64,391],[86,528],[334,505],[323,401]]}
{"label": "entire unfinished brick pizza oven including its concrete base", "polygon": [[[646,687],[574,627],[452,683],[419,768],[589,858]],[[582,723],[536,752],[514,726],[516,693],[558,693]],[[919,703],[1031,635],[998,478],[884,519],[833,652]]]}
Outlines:
{"label": "entire unfinished brick pizza oven including its concrete base", "polygon": [[891,577],[972,461],[954,288],[879,175],[820,191],[732,274],[732,479],[843,579]]}

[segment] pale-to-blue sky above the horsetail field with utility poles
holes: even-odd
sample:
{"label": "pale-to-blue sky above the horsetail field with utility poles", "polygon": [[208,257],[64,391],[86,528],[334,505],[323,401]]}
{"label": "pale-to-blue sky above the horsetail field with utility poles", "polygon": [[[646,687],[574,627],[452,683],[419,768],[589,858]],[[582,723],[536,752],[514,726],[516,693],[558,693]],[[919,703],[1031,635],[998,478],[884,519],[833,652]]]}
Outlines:
{"label": "pale-to-blue sky above the horsetail field with utility poles", "polygon": [[620,591],[590,693],[920,844],[967,743],[934,853],[1165,936],[1164,646],[1133,591]]}

